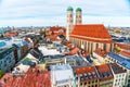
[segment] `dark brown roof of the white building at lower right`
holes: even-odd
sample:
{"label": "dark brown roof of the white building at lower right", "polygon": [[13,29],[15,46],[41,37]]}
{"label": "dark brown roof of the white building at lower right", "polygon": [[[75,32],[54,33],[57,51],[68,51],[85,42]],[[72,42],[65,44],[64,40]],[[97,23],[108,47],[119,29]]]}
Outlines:
{"label": "dark brown roof of the white building at lower right", "polygon": [[126,71],[119,65],[117,65],[116,63],[110,63],[109,65],[113,69],[115,74],[126,73]]}

